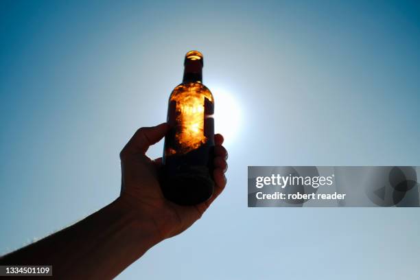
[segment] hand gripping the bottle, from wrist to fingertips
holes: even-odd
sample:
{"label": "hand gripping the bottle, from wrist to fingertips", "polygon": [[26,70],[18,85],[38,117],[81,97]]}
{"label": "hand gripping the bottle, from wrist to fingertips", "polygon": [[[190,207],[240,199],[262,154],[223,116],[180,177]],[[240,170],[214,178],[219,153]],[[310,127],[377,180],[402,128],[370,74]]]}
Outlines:
{"label": "hand gripping the bottle, from wrist to fingertips", "polygon": [[124,207],[148,215],[156,224],[156,234],[161,240],[188,229],[222,192],[226,185],[227,152],[222,146],[222,135],[215,135],[215,168],[213,196],[200,205],[180,206],[166,200],[161,191],[158,170],[161,158],[152,161],[145,155],[150,145],[161,140],[169,126],[166,123],[150,128],[140,128],[121,151],[121,196]]}

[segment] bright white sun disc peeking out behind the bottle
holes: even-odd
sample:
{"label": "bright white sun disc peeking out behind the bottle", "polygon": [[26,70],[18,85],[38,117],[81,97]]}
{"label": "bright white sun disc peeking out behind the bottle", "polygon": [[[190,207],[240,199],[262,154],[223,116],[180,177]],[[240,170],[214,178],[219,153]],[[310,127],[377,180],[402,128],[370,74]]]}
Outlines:
{"label": "bright white sun disc peeking out behind the bottle", "polygon": [[235,142],[241,126],[240,103],[235,95],[226,89],[216,87],[211,89],[214,97],[215,133],[224,137],[224,145]]}

